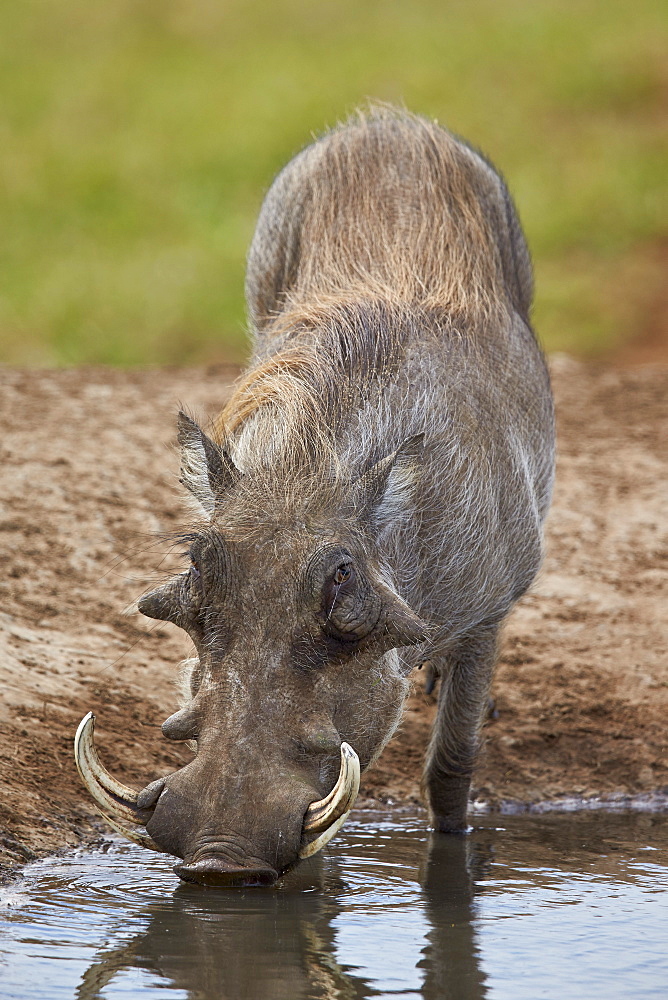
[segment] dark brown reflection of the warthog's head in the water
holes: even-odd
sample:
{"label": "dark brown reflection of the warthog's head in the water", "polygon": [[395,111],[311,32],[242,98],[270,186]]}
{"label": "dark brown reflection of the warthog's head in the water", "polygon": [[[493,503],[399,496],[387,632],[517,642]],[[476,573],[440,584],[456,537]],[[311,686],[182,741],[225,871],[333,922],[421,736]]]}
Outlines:
{"label": "dark brown reflection of the warthog's head in the water", "polygon": [[[221,898],[222,897],[222,898]],[[171,906],[147,909],[148,923],[103,951],[77,1000],[96,1000],[128,966],[157,973],[192,1000],[329,1000],[373,996],[335,957],[331,900],[316,892],[203,893],[178,888]]]}

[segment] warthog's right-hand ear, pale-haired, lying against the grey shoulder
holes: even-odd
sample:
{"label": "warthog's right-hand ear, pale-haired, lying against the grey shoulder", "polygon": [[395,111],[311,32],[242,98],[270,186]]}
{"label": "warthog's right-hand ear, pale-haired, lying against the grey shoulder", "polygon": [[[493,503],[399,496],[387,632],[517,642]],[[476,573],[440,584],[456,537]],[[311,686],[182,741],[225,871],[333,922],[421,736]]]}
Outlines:
{"label": "warthog's right-hand ear, pale-haired, lying against the grey shoulder", "polygon": [[377,529],[404,514],[410,505],[420,471],[424,434],[408,438],[372,465],[355,483],[356,511]]}

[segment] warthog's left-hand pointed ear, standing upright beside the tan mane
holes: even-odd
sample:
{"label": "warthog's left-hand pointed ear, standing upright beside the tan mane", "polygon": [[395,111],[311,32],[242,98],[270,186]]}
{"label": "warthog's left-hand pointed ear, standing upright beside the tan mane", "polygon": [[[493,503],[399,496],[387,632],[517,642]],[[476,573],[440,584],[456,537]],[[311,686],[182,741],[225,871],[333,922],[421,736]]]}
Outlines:
{"label": "warthog's left-hand pointed ear, standing upright beside the tan mane", "polygon": [[214,444],[183,411],[179,413],[177,427],[181,482],[211,518],[216,503],[239,481],[241,472],[227,452]]}

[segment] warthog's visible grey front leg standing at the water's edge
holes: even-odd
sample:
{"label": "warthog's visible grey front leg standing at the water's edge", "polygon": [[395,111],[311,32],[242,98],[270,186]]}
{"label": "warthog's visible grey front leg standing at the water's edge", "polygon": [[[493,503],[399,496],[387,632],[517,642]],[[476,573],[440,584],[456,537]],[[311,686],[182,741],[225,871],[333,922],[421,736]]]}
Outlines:
{"label": "warthog's visible grey front leg standing at the water's edge", "polygon": [[497,651],[498,625],[486,626],[447,656],[432,657],[441,678],[422,792],[442,833],[466,829],[471,775],[480,745]]}

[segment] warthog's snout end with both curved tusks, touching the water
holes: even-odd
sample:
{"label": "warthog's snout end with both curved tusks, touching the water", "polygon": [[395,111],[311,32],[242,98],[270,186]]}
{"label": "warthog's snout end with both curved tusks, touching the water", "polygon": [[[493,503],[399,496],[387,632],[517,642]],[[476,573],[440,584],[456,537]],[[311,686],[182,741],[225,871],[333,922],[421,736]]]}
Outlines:
{"label": "warthog's snout end with both curved tusks, touching the water", "polygon": [[[251,789],[243,797],[202,794],[220,783],[198,774],[199,760],[152,782],[141,792],[116,781],[93,743],[94,716],[81,722],[75,755],[81,776],[109,823],[135,843],[183,858],[177,874],[188,882],[218,886],[271,885],[299,858],[310,857],[345,821],[359,790],[359,760],[343,743],[340,772],[328,795],[314,800],[305,782]],[[218,781],[216,781],[218,779]],[[257,782],[256,782],[257,784]],[[260,795],[259,798],[255,798]],[[251,803],[258,801],[253,808]],[[259,854],[258,854],[259,850]]]}

